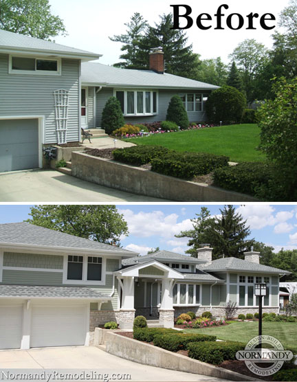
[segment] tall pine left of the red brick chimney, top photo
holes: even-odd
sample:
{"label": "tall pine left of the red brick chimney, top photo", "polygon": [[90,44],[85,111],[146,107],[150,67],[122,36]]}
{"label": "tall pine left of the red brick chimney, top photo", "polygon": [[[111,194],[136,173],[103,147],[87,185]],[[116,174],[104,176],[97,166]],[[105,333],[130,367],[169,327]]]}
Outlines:
{"label": "tall pine left of the red brick chimney, top photo", "polygon": [[126,34],[109,37],[111,41],[123,43],[124,45],[122,45],[121,51],[126,51],[126,53],[120,55],[120,58],[125,61],[116,63],[113,66],[126,69],[144,69],[146,62],[142,62],[140,59],[139,50],[140,42],[148,27],[148,23],[140,13],[135,12],[133,16],[131,16],[130,23],[125,23],[124,25],[127,27]]}

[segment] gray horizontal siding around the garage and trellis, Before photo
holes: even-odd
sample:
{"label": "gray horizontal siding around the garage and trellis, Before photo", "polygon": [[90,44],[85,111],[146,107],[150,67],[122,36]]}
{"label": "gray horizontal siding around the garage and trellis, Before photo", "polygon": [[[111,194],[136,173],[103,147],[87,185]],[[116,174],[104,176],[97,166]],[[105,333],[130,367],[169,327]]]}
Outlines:
{"label": "gray horizontal siding around the garage and trellis, Before photo", "polygon": [[69,93],[67,141],[78,141],[80,60],[62,60],[61,76],[8,74],[8,55],[0,54],[0,116],[44,115],[45,142],[57,142],[54,94],[58,89]]}

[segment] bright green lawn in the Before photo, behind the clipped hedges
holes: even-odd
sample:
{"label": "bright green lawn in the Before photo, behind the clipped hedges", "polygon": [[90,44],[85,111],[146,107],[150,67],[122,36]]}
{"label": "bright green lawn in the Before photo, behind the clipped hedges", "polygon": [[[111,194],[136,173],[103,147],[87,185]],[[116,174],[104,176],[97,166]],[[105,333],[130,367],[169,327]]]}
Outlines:
{"label": "bright green lawn in the Before photo, behind the clipped hedges", "polygon": [[236,162],[263,161],[265,155],[256,150],[260,143],[259,133],[256,124],[237,124],[125,140],[177,151],[227,155],[231,161]]}

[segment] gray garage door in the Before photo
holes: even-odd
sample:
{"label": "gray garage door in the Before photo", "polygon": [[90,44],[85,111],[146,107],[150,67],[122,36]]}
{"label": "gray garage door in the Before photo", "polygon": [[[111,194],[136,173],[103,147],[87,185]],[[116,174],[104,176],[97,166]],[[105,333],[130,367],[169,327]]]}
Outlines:
{"label": "gray garage door in the Before photo", "polygon": [[0,172],[39,167],[39,120],[0,120]]}

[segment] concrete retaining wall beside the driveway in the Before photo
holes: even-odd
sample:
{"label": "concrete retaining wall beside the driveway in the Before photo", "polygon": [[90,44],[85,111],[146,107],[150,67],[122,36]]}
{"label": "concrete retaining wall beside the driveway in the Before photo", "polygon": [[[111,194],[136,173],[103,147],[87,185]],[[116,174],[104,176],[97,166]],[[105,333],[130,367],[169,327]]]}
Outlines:
{"label": "concrete retaining wall beside the driveway in the Before photo", "polygon": [[170,201],[258,201],[238,192],[183,181],[85,153],[72,153],[72,175],[101,186]]}

